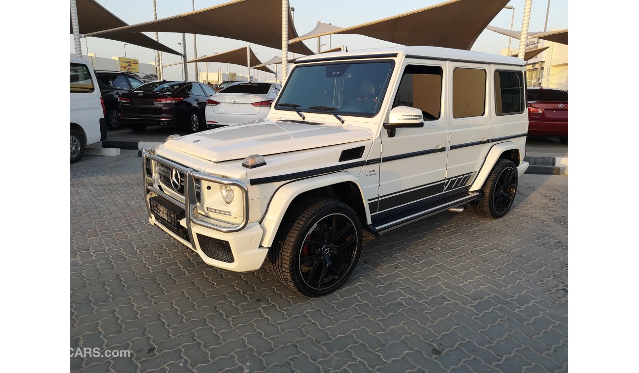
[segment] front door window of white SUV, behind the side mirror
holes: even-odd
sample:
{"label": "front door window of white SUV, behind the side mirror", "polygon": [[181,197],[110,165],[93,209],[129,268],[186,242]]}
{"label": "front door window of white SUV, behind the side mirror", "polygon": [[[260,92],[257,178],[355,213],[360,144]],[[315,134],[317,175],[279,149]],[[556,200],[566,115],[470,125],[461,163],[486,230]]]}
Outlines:
{"label": "front door window of white SUV, behind the side mirror", "polygon": [[442,68],[408,65],[404,69],[395,106],[410,106],[422,110],[424,121],[439,119],[442,107]]}

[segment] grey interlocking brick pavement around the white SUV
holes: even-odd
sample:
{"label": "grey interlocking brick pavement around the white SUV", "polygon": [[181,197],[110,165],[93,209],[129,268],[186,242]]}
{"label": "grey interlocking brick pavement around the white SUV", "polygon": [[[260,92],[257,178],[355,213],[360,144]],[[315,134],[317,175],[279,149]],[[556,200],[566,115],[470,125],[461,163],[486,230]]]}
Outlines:
{"label": "grey interlocking brick pavement around the white SUV", "polygon": [[[344,288],[294,295],[270,265],[204,265],[146,222],[141,158],[71,166],[71,358],[85,372],[567,371],[566,176],[514,210],[445,213],[373,240]],[[135,154],[135,152],[133,152]]]}

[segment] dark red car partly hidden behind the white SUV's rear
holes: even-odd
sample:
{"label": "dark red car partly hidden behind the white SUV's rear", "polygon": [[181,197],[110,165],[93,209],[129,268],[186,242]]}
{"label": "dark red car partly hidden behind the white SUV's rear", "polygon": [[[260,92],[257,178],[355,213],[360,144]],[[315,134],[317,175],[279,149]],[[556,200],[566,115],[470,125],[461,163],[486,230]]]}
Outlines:
{"label": "dark red car partly hidden behind the white SUV's rear", "polygon": [[568,92],[563,89],[530,87],[528,135],[558,138],[568,143]]}

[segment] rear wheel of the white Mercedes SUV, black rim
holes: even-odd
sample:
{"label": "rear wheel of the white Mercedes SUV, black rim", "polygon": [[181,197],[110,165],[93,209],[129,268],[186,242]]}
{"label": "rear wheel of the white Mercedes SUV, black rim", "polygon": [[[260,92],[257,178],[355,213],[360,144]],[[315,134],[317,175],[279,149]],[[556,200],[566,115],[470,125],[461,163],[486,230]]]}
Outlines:
{"label": "rear wheel of the white Mercedes SUV, black rim", "polygon": [[482,187],[482,197],[475,201],[475,213],[493,219],[505,216],[517,194],[518,173],[512,161],[498,159]]}

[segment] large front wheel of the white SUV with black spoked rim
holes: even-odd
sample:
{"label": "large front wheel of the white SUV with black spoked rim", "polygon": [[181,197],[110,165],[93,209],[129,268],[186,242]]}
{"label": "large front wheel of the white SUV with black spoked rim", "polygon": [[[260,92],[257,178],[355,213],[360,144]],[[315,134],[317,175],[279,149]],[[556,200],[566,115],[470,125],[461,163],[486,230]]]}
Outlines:
{"label": "large front wheel of the white SUV with black spoked rim", "polygon": [[272,249],[279,281],[301,295],[326,295],[355,270],[362,252],[362,224],[341,201],[307,200],[287,214]]}

